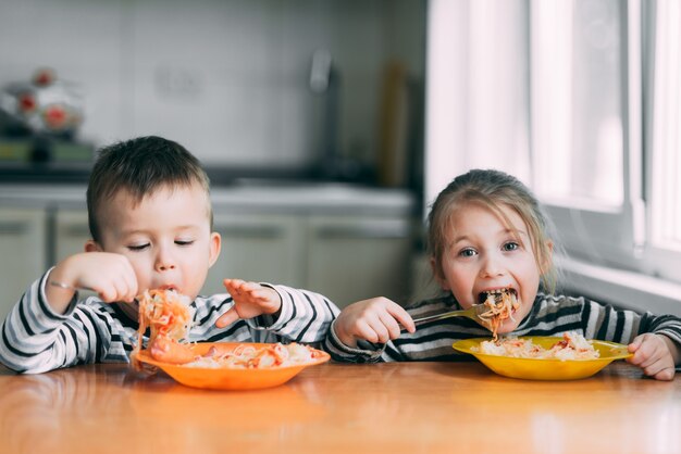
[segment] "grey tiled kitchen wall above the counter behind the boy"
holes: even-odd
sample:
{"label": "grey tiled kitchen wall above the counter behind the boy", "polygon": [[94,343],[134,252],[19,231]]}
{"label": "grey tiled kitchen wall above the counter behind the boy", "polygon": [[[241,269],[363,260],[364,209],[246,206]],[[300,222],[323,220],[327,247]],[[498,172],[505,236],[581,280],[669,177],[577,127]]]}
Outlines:
{"label": "grey tiled kitchen wall above the counter behind the boy", "polygon": [[96,146],[157,134],[209,165],[296,167],[330,135],[330,91],[309,85],[326,50],[338,150],[373,165],[385,70],[422,83],[424,36],[425,0],[3,0],[0,86],[51,66],[82,92]]}

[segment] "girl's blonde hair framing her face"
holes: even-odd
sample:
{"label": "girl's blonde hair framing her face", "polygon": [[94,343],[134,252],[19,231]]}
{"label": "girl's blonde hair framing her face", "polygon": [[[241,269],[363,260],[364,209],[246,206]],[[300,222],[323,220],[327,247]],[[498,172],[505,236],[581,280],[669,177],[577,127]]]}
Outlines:
{"label": "girl's blonde hair framing her face", "polygon": [[473,169],[459,175],[437,196],[428,216],[428,252],[438,279],[444,277],[442,258],[447,247],[450,222],[456,209],[478,203],[497,214],[506,224],[508,217],[502,211],[506,206],[515,211],[528,226],[532,251],[540,269],[544,289],[556,289],[557,272],[552,261],[553,240],[547,216],[538,201],[519,179],[494,169]]}

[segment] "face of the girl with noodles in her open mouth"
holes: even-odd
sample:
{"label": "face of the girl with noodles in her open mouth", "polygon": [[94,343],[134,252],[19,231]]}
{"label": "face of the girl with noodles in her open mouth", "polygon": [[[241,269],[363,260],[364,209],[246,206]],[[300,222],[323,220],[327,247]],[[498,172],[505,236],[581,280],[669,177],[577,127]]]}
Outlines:
{"label": "face of the girl with noodles in her open mouth", "polygon": [[442,257],[445,290],[468,308],[484,301],[486,291],[510,288],[520,306],[498,332],[510,332],[530,313],[540,286],[529,231],[522,218],[502,206],[510,226],[494,212],[478,204],[466,204],[451,216]]}

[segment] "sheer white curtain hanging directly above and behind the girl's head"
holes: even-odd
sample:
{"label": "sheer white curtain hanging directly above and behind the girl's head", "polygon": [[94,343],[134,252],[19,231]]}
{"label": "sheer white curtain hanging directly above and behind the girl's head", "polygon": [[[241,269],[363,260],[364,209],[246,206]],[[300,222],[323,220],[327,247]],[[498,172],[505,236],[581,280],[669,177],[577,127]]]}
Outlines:
{"label": "sheer white curtain hanging directly above and behind the girl's head", "polygon": [[470,168],[531,182],[528,30],[525,0],[430,1],[426,205]]}

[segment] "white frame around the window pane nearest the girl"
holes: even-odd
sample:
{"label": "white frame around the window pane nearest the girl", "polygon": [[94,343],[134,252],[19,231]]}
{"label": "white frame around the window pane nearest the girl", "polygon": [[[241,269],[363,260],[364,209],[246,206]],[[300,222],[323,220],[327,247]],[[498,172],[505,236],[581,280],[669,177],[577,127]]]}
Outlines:
{"label": "white frame around the window pane nearest the girl", "polygon": [[[621,15],[622,204],[614,209],[587,201],[571,200],[568,204],[565,200],[541,199],[541,202],[556,226],[558,240],[570,255],[592,264],[642,269],[640,257],[645,242],[645,205],[642,174],[643,70],[640,1],[624,2]],[[534,27],[532,18],[530,23]],[[531,87],[534,86],[531,80]],[[532,117],[531,114],[531,130],[534,128]],[[534,147],[532,139],[531,148]],[[534,151],[531,154],[534,155]],[[537,172],[535,165],[533,172]],[[535,181],[534,173],[533,176]]]}

